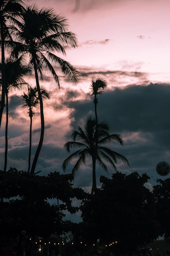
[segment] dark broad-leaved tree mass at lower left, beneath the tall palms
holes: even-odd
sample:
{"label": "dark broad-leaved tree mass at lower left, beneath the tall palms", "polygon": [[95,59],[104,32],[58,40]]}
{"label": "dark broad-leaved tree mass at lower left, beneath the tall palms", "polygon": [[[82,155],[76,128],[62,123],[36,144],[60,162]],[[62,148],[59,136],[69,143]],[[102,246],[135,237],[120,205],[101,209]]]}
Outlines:
{"label": "dark broad-leaved tree mass at lower left, beneath the tall palms", "polygon": [[[0,171],[0,247],[10,246],[11,239],[22,230],[28,238],[44,237],[51,233],[60,234],[71,228],[64,221],[64,211],[75,213],[79,207],[72,205],[72,198],[82,200],[86,194],[81,188],[73,188],[73,176],[50,172],[47,176],[30,175],[15,168]],[[57,205],[57,198],[62,202]],[[49,203],[49,199],[52,199]]]}

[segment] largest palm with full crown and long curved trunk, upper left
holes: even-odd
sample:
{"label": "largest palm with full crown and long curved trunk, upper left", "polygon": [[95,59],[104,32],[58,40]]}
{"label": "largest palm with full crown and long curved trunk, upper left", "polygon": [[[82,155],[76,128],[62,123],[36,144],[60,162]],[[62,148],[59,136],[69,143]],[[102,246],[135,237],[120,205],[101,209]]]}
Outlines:
{"label": "largest palm with full crown and long curved trunk, upper left", "polygon": [[58,88],[60,81],[56,70],[60,70],[68,81],[72,83],[78,81],[78,71],[69,62],[52,53],[65,54],[63,45],[72,47],[78,45],[75,34],[68,32],[67,27],[67,20],[64,17],[56,15],[52,9],[39,9],[37,5],[28,6],[17,26],[11,27],[12,34],[17,38],[16,47],[11,55],[15,57],[25,55],[29,58],[29,64],[33,66],[35,72],[40,103],[41,133],[31,174],[35,172],[44,138],[43,99],[39,86],[39,78],[43,80],[43,70],[52,74]]}

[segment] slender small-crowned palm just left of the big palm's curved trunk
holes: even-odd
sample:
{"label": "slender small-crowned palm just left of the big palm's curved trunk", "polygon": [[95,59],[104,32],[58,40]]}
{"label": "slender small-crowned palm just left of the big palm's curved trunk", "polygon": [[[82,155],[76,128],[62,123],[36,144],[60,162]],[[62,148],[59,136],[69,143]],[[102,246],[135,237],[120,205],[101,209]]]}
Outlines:
{"label": "slender small-crowned palm just left of the big palm's curved trunk", "polygon": [[[41,87],[41,96],[42,99],[49,99],[50,95],[49,92]],[[24,93],[22,95],[22,101],[23,101],[23,108],[28,108],[29,112],[29,117],[30,117],[30,146],[29,146],[29,156],[28,156],[28,173],[30,172],[30,167],[31,167],[31,139],[32,139],[32,117],[35,115],[33,112],[33,108],[37,108],[39,106],[39,98],[38,98],[38,92],[37,92],[37,87],[35,86],[32,88],[31,86],[28,87],[28,92],[27,94]]]}

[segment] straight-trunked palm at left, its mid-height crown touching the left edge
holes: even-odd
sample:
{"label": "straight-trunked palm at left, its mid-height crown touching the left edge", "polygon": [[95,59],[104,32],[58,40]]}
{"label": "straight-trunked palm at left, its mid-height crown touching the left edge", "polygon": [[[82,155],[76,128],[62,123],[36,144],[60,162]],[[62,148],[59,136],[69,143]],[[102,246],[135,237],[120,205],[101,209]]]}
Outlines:
{"label": "straight-trunked palm at left, its mid-height crown touching the left edge", "polygon": [[[30,67],[23,65],[22,58],[16,61],[10,59],[5,60],[5,97],[6,97],[6,125],[5,125],[5,161],[4,171],[6,171],[7,165],[7,150],[8,150],[8,93],[13,89],[22,89],[28,83],[23,79],[26,75],[31,75],[32,70]],[[2,86],[2,62],[0,63],[0,85]]]}

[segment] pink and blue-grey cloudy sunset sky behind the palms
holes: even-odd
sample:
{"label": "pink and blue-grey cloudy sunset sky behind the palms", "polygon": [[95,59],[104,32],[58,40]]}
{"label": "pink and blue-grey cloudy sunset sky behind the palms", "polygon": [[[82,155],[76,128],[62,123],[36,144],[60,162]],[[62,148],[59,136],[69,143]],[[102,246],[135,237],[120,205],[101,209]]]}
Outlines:
{"label": "pink and blue-grey cloudy sunset sky behind the palms", "polygon": [[[147,173],[148,188],[156,184],[156,165],[170,164],[170,1],[169,0],[30,0],[40,7],[53,8],[68,19],[69,30],[77,35],[79,46],[67,47],[64,58],[80,72],[77,85],[60,75],[58,90],[51,76],[44,83],[51,93],[44,102],[45,136],[36,171],[43,175],[62,171],[69,156],[63,145],[72,130],[84,127],[94,114],[90,96],[91,79],[107,81],[98,97],[99,122],[109,124],[110,133],[121,135],[124,145],[108,145],[128,158],[130,167],[118,162],[126,174]],[[61,55],[58,55],[61,56]],[[34,77],[27,82],[35,85]],[[22,108],[22,92],[13,91],[9,99],[7,168],[27,170],[30,120]],[[40,135],[39,110],[35,109],[32,133],[32,160]],[[0,130],[0,169],[4,165],[5,114]],[[74,162],[66,169],[70,173]],[[97,166],[97,186],[101,175],[111,177]],[[74,186],[90,192],[92,162],[86,160],[74,179]]]}

